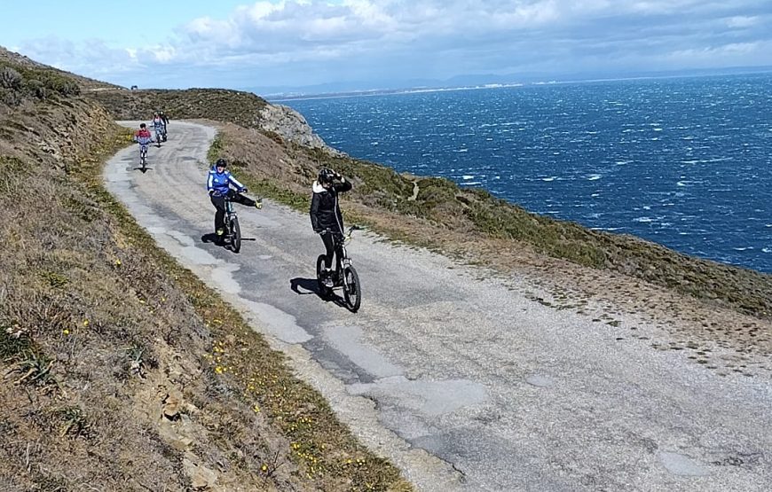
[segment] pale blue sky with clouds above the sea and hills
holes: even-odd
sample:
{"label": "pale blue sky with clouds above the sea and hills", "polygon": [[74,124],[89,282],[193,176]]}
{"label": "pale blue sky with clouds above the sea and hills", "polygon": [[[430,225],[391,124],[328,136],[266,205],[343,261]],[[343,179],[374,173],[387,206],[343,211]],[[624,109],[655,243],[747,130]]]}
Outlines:
{"label": "pale blue sky with clouds above the sea and hills", "polygon": [[772,0],[0,2],[0,45],[127,87],[772,66]]}

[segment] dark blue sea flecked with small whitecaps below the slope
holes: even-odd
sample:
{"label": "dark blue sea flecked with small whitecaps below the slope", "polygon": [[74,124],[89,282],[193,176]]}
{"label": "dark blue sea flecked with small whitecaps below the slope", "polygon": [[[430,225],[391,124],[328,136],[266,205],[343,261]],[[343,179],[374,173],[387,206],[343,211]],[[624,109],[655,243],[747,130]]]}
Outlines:
{"label": "dark blue sea flecked with small whitecaps below the slope", "polygon": [[772,272],[772,74],[282,104],[353,157]]}

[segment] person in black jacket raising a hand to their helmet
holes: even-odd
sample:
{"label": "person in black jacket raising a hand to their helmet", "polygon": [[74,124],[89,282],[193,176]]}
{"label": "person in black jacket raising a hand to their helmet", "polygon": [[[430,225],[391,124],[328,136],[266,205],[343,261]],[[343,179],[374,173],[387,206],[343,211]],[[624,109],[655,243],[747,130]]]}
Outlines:
{"label": "person in black jacket raising a hand to their helmet", "polygon": [[[337,183],[336,183],[337,182]],[[311,226],[321,236],[325,245],[324,283],[332,287],[333,253],[335,253],[335,271],[341,271],[343,257],[343,215],[338,204],[338,194],[351,190],[351,182],[332,169],[319,171],[317,181],[313,183],[311,197]]]}

